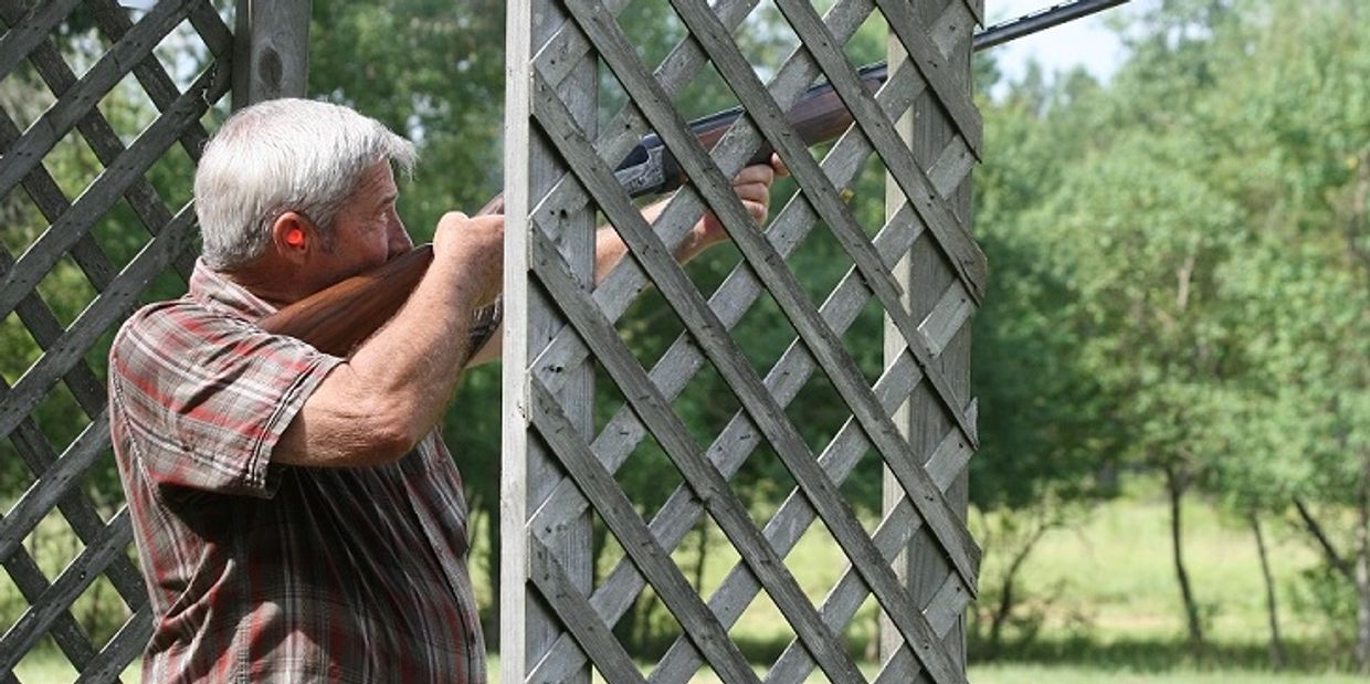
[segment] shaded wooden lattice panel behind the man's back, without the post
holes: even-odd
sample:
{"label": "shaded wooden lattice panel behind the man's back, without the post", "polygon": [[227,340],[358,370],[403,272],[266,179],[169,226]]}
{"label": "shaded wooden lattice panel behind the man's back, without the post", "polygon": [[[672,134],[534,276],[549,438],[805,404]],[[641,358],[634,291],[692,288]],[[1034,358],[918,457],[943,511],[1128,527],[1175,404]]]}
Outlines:
{"label": "shaded wooden lattice panel behind the man's back, without the post", "polygon": [[[110,491],[104,481],[99,506],[82,485],[92,473],[114,469],[104,350],[149,282],[164,271],[190,273],[189,180],[208,137],[201,118],[229,89],[233,37],[207,0],[164,0],[136,15],[112,0],[0,0],[0,21],[7,221],[0,314],[8,332],[22,328],[37,351],[0,385],[0,435],[12,447],[0,458],[21,461],[4,472],[25,473],[26,483],[7,487],[22,493],[5,495],[0,563],[29,603],[0,625],[0,681],[15,681],[14,666],[48,635],[82,680],[107,681],[141,651],[151,620],[118,485]],[[64,51],[73,41],[88,49]],[[63,155],[95,169],[49,171],[49,164],[62,167]],[[175,196],[149,181],[169,156],[184,166]],[[58,280],[63,274],[70,277]],[[68,289],[52,289],[58,285]],[[79,292],[89,296],[70,315],[49,306],[60,296],[70,308]],[[63,402],[73,410],[55,414],[74,414],[67,422],[75,425],[40,422],[42,407]],[[101,507],[112,513],[103,515]],[[56,520],[81,548],[49,577],[26,543],[40,524]],[[127,609],[107,640],[93,639],[73,615],[97,580],[112,585]]]}

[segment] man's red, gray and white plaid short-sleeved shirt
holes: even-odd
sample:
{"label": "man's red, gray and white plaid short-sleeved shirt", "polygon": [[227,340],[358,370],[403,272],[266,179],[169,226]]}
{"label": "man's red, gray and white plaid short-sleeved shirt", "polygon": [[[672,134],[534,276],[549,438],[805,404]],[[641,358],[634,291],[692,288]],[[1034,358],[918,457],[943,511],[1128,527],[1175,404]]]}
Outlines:
{"label": "man's red, gray and white plaid short-sleeved shirt", "polygon": [[273,465],[342,359],[263,332],[203,263],[110,352],[110,425],[152,599],[144,681],[485,681],[462,480],[437,433],[378,467]]}

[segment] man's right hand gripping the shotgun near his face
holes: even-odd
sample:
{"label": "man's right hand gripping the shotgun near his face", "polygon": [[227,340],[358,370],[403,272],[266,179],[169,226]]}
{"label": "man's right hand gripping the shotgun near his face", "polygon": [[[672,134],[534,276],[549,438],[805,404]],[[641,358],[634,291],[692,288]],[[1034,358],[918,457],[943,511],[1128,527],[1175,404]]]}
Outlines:
{"label": "man's right hand gripping the shotgun near his face", "polygon": [[433,233],[433,262],[460,269],[475,307],[495,302],[504,288],[504,217],[445,214]]}

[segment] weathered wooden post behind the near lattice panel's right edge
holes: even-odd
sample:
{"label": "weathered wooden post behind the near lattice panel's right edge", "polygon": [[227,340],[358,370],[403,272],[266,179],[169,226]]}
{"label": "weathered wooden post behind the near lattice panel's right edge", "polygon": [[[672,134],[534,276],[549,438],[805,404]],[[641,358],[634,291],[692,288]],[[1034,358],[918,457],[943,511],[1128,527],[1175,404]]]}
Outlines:
{"label": "weathered wooden post behind the near lattice panel's right edge", "polygon": [[[982,0],[921,0],[912,3],[901,22],[895,23],[906,36],[914,30],[926,34],[923,49],[912,56],[914,63],[925,64],[929,70],[943,70],[943,88],[926,88],[910,112],[897,122],[897,127],[918,167],[926,171],[936,189],[930,200],[941,204],[954,219],[947,226],[947,233],[956,236],[954,239],[962,240],[963,245],[973,245],[969,243],[970,162],[980,143],[980,119],[974,107],[966,103],[973,93],[971,33],[982,12]],[[906,23],[910,19],[912,25]],[[889,37],[892,64],[910,59],[899,33],[899,29],[892,29]],[[951,99],[960,106],[949,104],[947,100]],[[900,211],[907,214],[904,197],[900,181],[888,175],[888,221],[900,219]],[[955,223],[964,226],[967,233],[955,232]],[[919,321],[919,329],[926,336],[925,341],[914,344],[925,344],[927,361],[945,374],[945,384],[943,388],[926,381],[919,384],[895,418],[910,441],[915,462],[926,465],[938,489],[964,524],[969,503],[966,463],[973,454],[975,436],[975,404],[970,398],[970,319],[978,304],[985,273],[982,265],[958,269],[951,262],[956,258],[955,248],[947,249],[943,244],[937,234],[925,232],[896,266],[895,274],[904,289],[901,302],[906,311]],[[885,366],[897,363],[904,354],[910,354],[910,343],[886,318]],[[958,425],[955,411],[963,411],[964,426]],[[897,478],[886,469],[885,514],[895,513],[904,496]],[[941,635],[943,646],[964,669],[964,600],[956,595],[956,588],[947,584],[949,567],[937,541],[926,529],[919,529],[907,551],[896,559],[895,567],[921,606],[941,609],[930,610],[927,618]],[[954,595],[956,600],[948,602]],[[888,620],[882,621],[882,661],[893,658],[901,642]]]}

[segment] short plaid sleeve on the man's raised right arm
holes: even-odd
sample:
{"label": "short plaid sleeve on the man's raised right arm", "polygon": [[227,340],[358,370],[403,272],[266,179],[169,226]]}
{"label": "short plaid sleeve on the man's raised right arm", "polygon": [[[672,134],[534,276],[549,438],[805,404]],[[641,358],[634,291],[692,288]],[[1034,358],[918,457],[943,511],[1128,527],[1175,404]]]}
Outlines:
{"label": "short plaid sleeve on the man's raised right arm", "polygon": [[271,450],[340,362],[193,302],[153,306],[110,351],[111,419],[162,492],[269,498]]}

